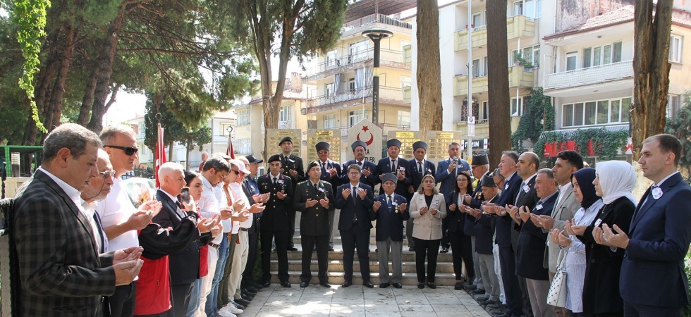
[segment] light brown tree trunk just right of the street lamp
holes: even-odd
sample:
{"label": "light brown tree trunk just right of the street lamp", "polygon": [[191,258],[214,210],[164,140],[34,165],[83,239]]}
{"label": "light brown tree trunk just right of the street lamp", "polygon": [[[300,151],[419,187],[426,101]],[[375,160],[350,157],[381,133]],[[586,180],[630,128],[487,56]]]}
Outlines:
{"label": "light brown tree trunk just right of the street lamp", "polygon": [[416,36],[420,131],[424,134],[427,130],[442,129],[439,6],[436,0],[417,0]]}

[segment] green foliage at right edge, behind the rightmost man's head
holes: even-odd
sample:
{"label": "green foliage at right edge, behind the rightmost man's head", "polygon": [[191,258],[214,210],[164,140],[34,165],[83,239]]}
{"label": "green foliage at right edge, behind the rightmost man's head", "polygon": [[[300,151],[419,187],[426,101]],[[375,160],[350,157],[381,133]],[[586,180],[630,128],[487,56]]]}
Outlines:
{"label": "green foliage at right edge, behind the rightmost man's head", "polygon": [[681,142],[680,168],[685,170],[687,181],[691,182],[691,90],[682,95],[684,104],[675,118],[667,118],[665,132],[677,137]]}

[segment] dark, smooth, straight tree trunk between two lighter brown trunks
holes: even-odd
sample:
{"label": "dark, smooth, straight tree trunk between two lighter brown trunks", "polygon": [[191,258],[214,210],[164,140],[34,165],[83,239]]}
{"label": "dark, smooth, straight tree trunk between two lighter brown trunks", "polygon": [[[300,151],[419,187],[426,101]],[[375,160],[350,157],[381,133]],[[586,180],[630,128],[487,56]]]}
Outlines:
{"label": "dark, smooth, straight tree trunk between two lighter brown trunks", "polygon": [[[506,41],[506,0],[487,1],[489,164],[493,167],[499,165],[501,151],[511,149],[508,45]],[[468,99],[470,104],[471,98]]]}

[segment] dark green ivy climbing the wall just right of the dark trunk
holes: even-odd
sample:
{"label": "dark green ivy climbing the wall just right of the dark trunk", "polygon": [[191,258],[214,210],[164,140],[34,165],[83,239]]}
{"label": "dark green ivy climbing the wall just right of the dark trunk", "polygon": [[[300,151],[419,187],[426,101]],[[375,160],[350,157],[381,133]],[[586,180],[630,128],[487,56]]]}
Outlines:
{"label": "dark green ivy climbing the wall just right of the dark trunk", "polygon": [[544,95],[542,87],[535,87],[530,91],[530,97],[527,105],[524,106],[518,128],[511,135],[513,149],[525,151],[522,147],[522,140],[537,142],[543,130],[554,130],[554,107],[549,96]]}

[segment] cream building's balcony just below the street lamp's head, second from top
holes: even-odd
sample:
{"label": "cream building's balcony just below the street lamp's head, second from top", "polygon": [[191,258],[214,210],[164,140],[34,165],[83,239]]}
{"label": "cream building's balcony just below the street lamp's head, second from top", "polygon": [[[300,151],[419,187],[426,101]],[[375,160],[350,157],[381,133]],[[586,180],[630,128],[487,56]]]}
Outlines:
{"label": "cream building's balcony just below the street lamp's head, second from top", "polygon": [[[405,62],[404,54],[405,51],[381,49],[381,51],[379,51],[379,66],[410,70],[410,62]],[[305,80],[310,82],[312,80],[333,76],[338,73],[352,71],[357,68],[372,66],[373,61],[374,49],[368,49],[367,51],[360,51],[356,54],[348,54],[339,58],[330,59],[308,69],[305,75]]]}

